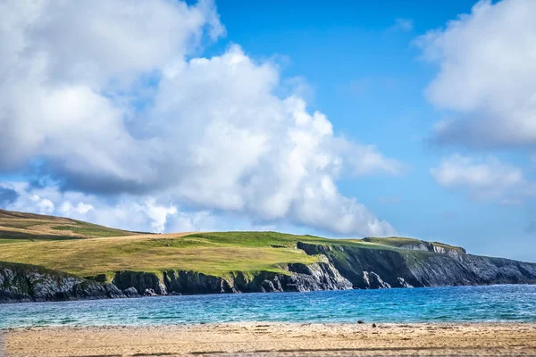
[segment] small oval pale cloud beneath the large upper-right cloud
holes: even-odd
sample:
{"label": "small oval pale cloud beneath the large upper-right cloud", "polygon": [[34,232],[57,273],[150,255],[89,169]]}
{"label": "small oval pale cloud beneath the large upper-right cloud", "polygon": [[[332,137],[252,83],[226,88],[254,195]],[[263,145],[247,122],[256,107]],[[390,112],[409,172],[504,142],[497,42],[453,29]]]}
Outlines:
{"label": "small oval pale cloud beneath the large upper-right cloud", "polygon": [[430,172],[441,186],[461,190],[477,200],[517,204],[536,195],[536,184],[525,179],[523,170],[492,156],[473,158],[455,154]]}

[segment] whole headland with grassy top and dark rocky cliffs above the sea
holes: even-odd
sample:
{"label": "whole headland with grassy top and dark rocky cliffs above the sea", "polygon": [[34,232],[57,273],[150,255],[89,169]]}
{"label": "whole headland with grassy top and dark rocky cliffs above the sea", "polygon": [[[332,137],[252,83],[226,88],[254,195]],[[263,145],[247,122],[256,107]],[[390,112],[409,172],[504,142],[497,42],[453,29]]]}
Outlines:
{"label": "whole headland with grassy top and dark rocky cliffs above the sea", "polygon": [[0,210],[0,301],[536,283],[536,264],[407,237],[147,234]]}

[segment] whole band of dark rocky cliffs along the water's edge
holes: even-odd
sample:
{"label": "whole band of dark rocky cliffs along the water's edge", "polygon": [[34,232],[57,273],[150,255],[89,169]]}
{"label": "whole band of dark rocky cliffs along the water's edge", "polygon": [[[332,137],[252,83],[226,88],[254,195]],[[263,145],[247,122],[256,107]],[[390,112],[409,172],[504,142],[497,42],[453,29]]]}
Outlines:
{"label": "whole band of dark rocky cliffs along the water's edge", "polygon": [[78,277],[0,262],[0,302],[46,302],[152,295],[306,292],[391,287],[536,284],[536,264],[465,253],[429,242],[397,249],[297,243],[319,258],[284,272],[232,271],[225,277],[190,270],[117,271]]}

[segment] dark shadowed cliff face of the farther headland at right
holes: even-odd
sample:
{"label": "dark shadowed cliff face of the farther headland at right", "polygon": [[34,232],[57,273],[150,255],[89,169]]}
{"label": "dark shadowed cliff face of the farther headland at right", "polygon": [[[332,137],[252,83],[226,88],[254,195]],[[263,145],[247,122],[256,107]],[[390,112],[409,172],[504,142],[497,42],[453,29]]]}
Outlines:
{"label": "dark shadowed cliff face of the farther headland at right", "polygon": [[411,250],[301,242],[297,246],[308,254],[325,255],[354,288],[536,284],[535,263],[466,254],[440,245]]}

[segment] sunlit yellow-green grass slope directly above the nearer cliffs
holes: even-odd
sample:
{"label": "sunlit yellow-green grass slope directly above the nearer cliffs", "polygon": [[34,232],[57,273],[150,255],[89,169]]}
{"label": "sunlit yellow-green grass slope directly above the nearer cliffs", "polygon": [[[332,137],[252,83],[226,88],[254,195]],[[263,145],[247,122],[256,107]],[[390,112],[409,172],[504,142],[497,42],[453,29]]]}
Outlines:
{"label": "sunlit yellow-green grass slope directly above the nearer cliffs", "polygon": [[[193,235],[176,238],[93,238],[3,243],[0,261],[36,264],[81,276],[117,270],[195,270],[224,276],[231,271],[283,271],[289,262],[318,258],[297,250],[297,236],[275,234],[285,248],[272,248],[265,233]],[[287,237],[285,237],[287,236]],[[255,242],[259,237],[259,242]]]}

